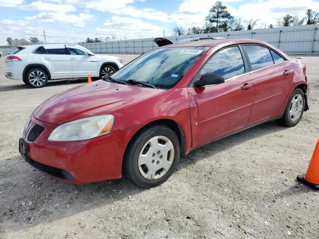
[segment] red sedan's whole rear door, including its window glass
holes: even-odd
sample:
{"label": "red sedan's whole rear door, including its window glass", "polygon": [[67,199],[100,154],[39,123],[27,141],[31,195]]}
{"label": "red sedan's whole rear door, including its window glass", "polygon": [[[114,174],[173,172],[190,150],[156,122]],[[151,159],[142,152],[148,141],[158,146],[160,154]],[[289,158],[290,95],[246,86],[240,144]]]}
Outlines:
{"label": "red sedan's whole rear door, including its window glass", "polygon": [[261,45],[243,45],[254,78],[254,102],[249,123],[279,116],[294,77],[289,61]]}

